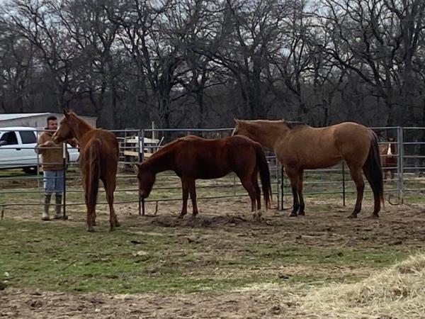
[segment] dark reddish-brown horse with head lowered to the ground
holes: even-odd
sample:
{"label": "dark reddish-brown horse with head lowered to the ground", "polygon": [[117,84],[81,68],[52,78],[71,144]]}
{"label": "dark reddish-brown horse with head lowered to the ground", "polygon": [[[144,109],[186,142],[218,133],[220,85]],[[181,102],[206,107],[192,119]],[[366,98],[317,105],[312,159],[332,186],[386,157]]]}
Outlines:
{"label": "dark reddish-brown horse with head lowered to the ground", "polygon": [[[260,173],[266,208],[270,207],[271,184],[266,155],[261,145],[243,136],[205,140],[186,136],[162,147],[145,162],[137,164],[139,191],[142,201],[152,191],[155,176],[171,170],[181,178],[183,208],[179,218],[187,213],[188,194],[191,194],[193,216],[198,214],[196,179],[216,179],[235,172],[251,198],[254,219],[261,218],[261,191],[257,174]],[[257,213],[257,209],[259,212]]]}

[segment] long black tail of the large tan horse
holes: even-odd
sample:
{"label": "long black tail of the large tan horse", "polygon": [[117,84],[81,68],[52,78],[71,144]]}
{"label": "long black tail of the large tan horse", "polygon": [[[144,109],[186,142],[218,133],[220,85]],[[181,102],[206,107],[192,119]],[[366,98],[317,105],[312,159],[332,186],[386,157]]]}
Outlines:
{"label": "long black tail of the large tan horse", "polygon": [[384,205],[384,181],[382,178],[382,167],[376,134],[370,130],[370,149],[368,159],[363,165],[363,172],[368,179],[375,198],[375,211],[380,211],[380,203]]}

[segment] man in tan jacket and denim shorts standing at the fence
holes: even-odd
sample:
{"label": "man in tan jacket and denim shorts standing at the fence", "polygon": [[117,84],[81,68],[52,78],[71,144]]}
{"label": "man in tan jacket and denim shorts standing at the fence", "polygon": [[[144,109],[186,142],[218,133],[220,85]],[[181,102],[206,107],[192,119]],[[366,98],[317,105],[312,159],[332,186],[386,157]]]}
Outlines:
{"label": "man in tan jacket and denim shorts standing at the fence", "polygon": [[[62,144],[55,144],[52,135],[57,130],[57,118],[49,116],[47,126],[37,141],[36,152],[41,155],[41,164],[44,175],[44,211],[41,220],[50,220],[49,208],[52,194],[55,193],[55,219],[62,219],[61,204],[64,191],[64,165],[62,158]],[[75,147],[77,142],[70,141]]]}

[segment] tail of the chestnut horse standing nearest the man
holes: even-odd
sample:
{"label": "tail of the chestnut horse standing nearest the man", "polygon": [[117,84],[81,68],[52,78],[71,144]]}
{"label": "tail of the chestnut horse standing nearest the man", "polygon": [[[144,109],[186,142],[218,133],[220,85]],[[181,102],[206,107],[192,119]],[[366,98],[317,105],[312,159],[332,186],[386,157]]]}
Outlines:
{"label": "tail of the chestnut horse standing nearest the man", "polygon": [[87,174],[89,174],[90,178],[86,194],[87,204],[90,206],[95,206],[97,201],[99,179],[101,177],[101,145],[101,140],[96,139],[91,142],[89,147],[90,170]]}

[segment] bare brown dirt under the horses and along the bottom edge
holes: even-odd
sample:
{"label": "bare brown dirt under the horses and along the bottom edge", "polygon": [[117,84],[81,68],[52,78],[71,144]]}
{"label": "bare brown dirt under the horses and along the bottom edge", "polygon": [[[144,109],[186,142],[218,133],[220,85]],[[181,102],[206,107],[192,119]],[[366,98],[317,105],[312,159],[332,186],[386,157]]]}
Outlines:
{"label": "bare brown dirt under the horses and along the bottom edge", "polygon": [[[137,206],[123,204],[116,208],[122,228],[134,230],[144,225],[156,228],[175,228],[176,235],[191,240],[192,229],[203,228],[214,235],[222,245],[244,237],[258,237],[262,242],[284,241],[288,245],[311,247],[384,247],[402,245],[407,248],[423,247],[425,241],[425,205],[391,206],[388,203],[378,220],[369,219],[371,203],[363,203],[363,212],[353,220],[353,203],[341,205],[307,198],[305,217],[290,218],[289,212],[263,211],[263,221],[254,222],[246,198],[200,200],[200,215],[177,219],[181,208],[178,201],[147,203],[146,217],[137,216]],[[276,204],[276,203],[275,203]],[[65,225],[84,227],[84,206],[69,209]],[[34,211],[8,208],[8,217],[39,220]],[[53,223],[53,222],[52,222]],[[104,207],[98,213],[100,227],[108,225]],[[119,230],[118,230],[119,231]],[[157,231],[157,230],[155,230]],[[192,239],[196,240],[196,239]],[[320,269],[310,269],[310,271]],[[308,272],[309,269],[287,267],[285,274]],[[323,269],[322,269],[323,271]],[[341,269],[326,269],[329,275]],[[349,272],[351,269],[342,269]],[[368,269],[363,269],[368,272]],[[106,293],[58,293],[50,291],[13,289],[0,290],[0,318],[310,318],[297,312],[291,301],[294,291],[275,286],[251,287],[226,293],[191,293],[177,295],[141,294],[109,295]],[[312,318],[312,317],[311,317]],[[317,318],[317,317],[315,317]]]}

